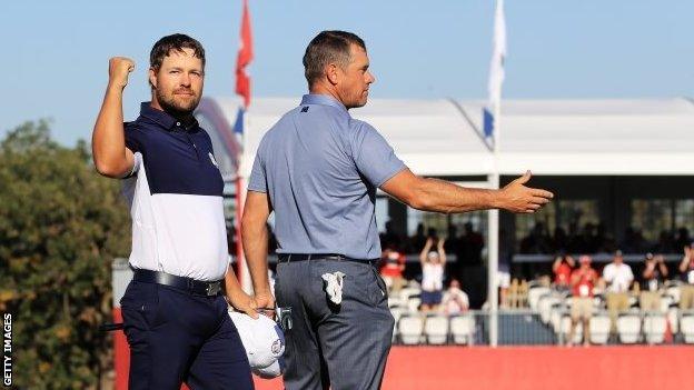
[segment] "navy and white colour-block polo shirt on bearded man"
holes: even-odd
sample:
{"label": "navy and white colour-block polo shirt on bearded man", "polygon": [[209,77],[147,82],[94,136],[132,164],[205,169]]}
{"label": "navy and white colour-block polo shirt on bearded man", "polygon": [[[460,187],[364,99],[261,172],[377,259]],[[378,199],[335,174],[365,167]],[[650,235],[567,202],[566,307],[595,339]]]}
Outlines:
{"label": "navy and white colour-block polo shirt on bearded man", "polygon": [[125,123],[135,154],[123,189],[132,217],[130,264],[197,280],[227,270],[224,180],[209,134],[143,102]]}

